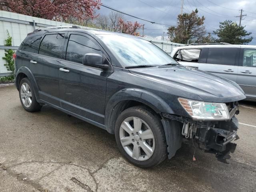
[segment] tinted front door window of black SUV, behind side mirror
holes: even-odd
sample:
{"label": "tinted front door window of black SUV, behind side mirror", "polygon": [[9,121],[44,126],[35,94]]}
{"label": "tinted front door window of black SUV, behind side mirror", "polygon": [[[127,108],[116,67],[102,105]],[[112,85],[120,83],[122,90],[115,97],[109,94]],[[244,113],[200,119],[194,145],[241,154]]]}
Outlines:
{"label": "tinted front door window of black SUV, behind side mirror", "polygon": [[82,35],[71,34],[68,40],[66,60],[82,64],[84,54],[87,53],[102,55],[102,51],[92,40]]}

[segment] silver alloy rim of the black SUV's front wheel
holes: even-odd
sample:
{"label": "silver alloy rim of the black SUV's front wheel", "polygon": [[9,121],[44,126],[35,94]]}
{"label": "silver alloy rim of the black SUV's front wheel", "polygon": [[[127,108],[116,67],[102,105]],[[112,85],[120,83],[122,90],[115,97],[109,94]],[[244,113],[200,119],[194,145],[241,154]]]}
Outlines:
{"label": "silver alloy rim of the black SUV's front wheel", "polygon": [[121,144],[126,153],[132,158],[148,160],[155,150],[155,139],[152,130],[138,117],[126,118],[119,131]]}

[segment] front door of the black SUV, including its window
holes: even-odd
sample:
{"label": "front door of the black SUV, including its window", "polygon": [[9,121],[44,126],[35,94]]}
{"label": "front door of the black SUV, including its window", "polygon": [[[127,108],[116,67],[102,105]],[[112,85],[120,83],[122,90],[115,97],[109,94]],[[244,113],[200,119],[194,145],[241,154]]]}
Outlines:
{"label": "front door of the black SUV, including its window", "polygon": [[82,64],[84,54],[103,55],[100,46],[84,33],[70,32],[65,48],[58,71],[61,107],[104,124],[108,72]]}

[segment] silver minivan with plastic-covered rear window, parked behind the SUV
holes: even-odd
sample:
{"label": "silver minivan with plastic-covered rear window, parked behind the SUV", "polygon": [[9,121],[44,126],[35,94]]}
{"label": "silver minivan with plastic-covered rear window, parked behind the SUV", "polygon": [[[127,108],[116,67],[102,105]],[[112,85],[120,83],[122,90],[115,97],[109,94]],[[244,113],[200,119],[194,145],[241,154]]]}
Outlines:
{"label": "silver minivan with plastic-covered rear window, parked behind the SUV", "polygon": [[244,90],[246,100],[256,101],[256,46],[191,44],[175,48],[171,56],[184,66],[236,82]]}

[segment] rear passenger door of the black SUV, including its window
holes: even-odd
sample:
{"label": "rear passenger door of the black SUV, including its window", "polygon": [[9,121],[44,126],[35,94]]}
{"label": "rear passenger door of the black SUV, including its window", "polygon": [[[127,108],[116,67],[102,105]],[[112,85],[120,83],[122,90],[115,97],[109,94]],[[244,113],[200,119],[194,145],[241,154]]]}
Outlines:
{"label": "rear passenger door of the black SUV, including its window", "polygon": [[40,43],[38,54],[30,60],[30,70],[38,84],[40,99],[56,106],[60,106],[58,70],[65,34],[65,32],[46,33]]}

